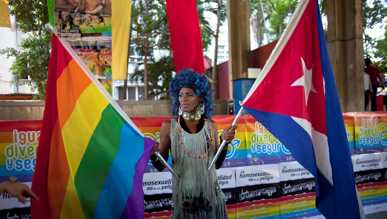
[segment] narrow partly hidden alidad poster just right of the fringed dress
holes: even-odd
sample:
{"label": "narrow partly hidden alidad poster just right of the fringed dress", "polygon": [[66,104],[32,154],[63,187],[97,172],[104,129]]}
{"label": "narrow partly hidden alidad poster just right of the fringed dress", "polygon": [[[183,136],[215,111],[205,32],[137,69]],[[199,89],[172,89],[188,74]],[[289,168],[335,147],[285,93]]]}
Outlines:
{"label": "narrow partly hidden alidad poster just right of the fringed dress", "polygon": [[227,215],[229,219],[236,218],[236,182],[235,168],[221,168],[216,170],[217,180],[226,197]]}

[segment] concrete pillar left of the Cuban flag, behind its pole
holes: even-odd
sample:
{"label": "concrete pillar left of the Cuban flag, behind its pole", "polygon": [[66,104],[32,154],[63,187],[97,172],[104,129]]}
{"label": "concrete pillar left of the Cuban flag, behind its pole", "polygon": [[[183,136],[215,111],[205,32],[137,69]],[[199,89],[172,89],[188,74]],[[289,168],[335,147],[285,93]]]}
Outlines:
{"label": "concrete pillar left of the Cuban flag, behind its pole", "polygon": [[[229,94],[233,98],[233,79],[247,72],[250,51],[250,3],[248,0],[227,0],[228,78]],[[236,103],[237,104],[237,103]]]}

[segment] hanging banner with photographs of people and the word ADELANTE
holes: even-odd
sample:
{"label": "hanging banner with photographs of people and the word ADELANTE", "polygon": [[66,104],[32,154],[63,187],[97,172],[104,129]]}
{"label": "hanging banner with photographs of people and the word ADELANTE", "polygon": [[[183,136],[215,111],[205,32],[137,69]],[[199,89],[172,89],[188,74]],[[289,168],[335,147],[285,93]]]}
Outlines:
{"label": "hanging banner with photographs of people and the word ADELANTE", "polygon": [[55,0],[55,28],[112,95],[111,0]]}

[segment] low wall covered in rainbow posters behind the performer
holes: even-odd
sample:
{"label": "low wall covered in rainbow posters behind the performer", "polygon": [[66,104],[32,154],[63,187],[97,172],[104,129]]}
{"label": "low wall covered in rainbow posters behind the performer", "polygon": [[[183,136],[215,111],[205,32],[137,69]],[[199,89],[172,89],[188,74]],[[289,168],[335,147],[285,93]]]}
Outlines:
{"label": "low wall covered in rainbow posters behind the performer", "polygon": [[[383,119],[387,113],[345,113],[343,116],[351,152],[361,153],[353,155],[353,165],[366,213],[385,211],[387,152],[384,151],[387,147],[384,142],[387,137]],[[218,135],[234,118],[213,117],[218,124]],[[159,141],[161,124],[169,119],[148,117],[132,118],[132,121],[146,137]],[[251,116],[241,116],[237,124],[236,137],[229,145],[223,166],[217,170],[229,218],[296,219],[305,214],[322,219],[315,209],[313,176],[293,162],[285,145]],[[0,121],[0,182],[31,186],[40,128],[41,121]],[[168,163],[171,164],[171,158]],[[158,172],[151,162],[148,164],[143,183],[145,218],[170,219],[172,176],[166,170]],[[15,215],[30,218],[29,211],[29,203],[24,205],[6,193],[0,196],[0,219]]]}

